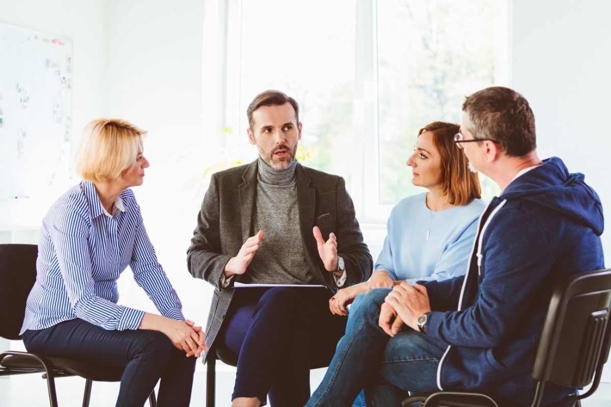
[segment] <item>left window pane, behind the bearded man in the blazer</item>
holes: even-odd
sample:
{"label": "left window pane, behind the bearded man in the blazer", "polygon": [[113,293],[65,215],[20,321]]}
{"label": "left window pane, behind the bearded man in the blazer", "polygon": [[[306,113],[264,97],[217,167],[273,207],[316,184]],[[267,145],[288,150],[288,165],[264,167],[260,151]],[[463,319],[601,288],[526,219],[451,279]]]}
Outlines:
{"label": "left window pane, behind the bearded man in the blazer", "polygon": [[258,93],[276,89],[299,103],[300,162],[342,175],[349,185],[354,20],[351,0],[243,0],[240,131],[229,137],[244,159],[257,156],[246,139],[246,107]]}

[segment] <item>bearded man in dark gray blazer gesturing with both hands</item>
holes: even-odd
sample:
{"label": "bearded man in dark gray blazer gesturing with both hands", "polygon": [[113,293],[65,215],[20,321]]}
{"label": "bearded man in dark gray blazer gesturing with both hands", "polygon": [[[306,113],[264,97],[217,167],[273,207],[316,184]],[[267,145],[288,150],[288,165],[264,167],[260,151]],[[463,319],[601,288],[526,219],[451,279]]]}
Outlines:
{"label": "bearded man in dark gray blazer gesturing with both hands", "polygon": [[[240,355],[232,405],[259,406],[269,394],[273,406],[302,406],[310,366],[331,359],[345,330],[329,297],[367,280],[373,262],[343,179],[295,160],[295,99],[268,90],[247,115],[259,157],[212,176],[188,267],[214,286],[207,345]],[[234,289],[236,282],[325,288]]]}

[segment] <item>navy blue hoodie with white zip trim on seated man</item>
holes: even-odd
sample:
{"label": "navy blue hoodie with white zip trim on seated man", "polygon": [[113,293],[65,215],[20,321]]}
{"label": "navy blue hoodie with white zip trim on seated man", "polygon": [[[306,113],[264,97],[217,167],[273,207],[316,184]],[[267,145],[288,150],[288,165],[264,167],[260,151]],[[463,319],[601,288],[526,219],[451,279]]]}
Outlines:
{"label": "navy blue hoodie with white zip trim on seated man", "polygon": [[[604,268],[602,206],[582,174],[552,157],[514,179],[481,215],[467,274],[425,284],[426,334],[449,346],[442,390],[530,405],[536,346],[556,283]],[[548,384],[543,404],[573,389]]]}

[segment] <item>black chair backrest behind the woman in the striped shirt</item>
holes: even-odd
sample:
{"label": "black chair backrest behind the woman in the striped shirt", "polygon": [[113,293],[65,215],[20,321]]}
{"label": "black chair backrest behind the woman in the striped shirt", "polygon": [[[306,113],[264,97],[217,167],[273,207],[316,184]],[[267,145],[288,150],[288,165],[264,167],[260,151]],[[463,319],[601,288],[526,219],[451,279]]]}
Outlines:
{"label": "black chair backrest behind the woman in the striped shirt", "polygon": [[0,336],[21,339],[27,295],[36,279],[37,245],[0,245]]}

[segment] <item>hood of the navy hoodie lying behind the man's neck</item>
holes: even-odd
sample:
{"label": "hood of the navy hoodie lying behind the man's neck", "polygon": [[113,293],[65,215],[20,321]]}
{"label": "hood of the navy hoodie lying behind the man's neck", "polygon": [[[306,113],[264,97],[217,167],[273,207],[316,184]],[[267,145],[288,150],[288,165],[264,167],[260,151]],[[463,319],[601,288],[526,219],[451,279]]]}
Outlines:
{"label": "hood of the navy hoodie lying behind the man's neck", "polygon": [[598,236],[604,228],[598,194],[585,184],[583,174],[569,173],[558,157],[543,160],[543,165],[511,181],[499,198],[526,200],[560,212],[589,226]]}

